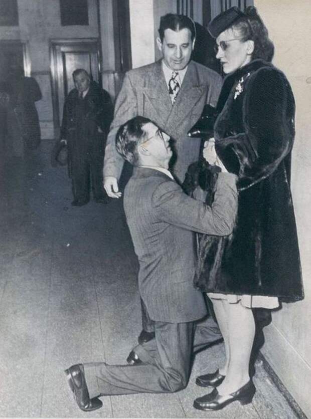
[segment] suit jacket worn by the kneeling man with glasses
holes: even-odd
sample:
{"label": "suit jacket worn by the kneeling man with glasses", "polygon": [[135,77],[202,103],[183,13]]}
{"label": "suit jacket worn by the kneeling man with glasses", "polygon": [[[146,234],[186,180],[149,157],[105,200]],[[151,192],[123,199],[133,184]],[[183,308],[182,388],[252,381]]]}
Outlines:
{"label": "suit jacket worn by the kneeling man with glasses", "polygon": [[138,287],[152,320],[183,323],[205,316],[193,286],[194,233],[232,233],[237,211],[235,175],[220,173],[212,206],[186,195],[158,170],[134,167],[124,210],[139,262]]}

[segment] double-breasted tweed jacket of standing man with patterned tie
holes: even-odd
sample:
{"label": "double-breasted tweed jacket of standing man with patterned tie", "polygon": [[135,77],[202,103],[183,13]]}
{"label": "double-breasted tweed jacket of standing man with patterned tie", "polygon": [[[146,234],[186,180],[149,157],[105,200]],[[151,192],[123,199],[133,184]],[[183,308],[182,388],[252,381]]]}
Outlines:
{"label": "double-breasted tweed jacket of standing man with patterned tie", "polygon": [[189,138],[187,132],[200,118],[205,104],[216,106],[222,78],[215,71],[190,61],[172,105],[161,61],[125,74],[107,138],[104,176],[119,178],[123,159],[115,149],[115,134],[121,124],[137,115],[149,118],[175,140],[174,174],[180,181],[184,180],[189,164],[198,160],[201,139]]}

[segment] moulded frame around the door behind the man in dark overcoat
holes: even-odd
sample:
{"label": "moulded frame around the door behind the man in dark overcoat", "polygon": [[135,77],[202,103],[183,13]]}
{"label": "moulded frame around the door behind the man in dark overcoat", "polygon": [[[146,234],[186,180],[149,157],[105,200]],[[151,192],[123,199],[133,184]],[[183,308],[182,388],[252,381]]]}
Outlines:
{"label": "moulded frame around the door behind the man in dark overcoat", "polygon": [[68,47],[84,44],[96,46],[98,63],[98,81],[101,85],[101,60],[100,60],[100,42],[98,38],[75,38],[75,39],[52,39],[50,40],[50,70],[51,70],[51,91],[53,105],[53,122],[55,138],[60,137],[61,118],[59,109],[59,83],[63,80],[62,66],[58,63],[57,47]]}

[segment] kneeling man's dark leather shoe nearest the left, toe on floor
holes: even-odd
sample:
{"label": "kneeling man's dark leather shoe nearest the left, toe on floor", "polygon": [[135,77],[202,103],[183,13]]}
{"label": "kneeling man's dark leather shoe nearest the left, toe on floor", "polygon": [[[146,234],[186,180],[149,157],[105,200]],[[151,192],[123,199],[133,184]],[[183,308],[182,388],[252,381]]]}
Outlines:
{"label": "kneeling man's dark leather shoe nearest the left, toe on floor", "polygon": [[82,364],[72,365],[70,368],[65,370],[65,374],[76,403],[81,410],[91,411],[102,407],[103,403],[99,400],[99,398],[94,397],[90,399]]}

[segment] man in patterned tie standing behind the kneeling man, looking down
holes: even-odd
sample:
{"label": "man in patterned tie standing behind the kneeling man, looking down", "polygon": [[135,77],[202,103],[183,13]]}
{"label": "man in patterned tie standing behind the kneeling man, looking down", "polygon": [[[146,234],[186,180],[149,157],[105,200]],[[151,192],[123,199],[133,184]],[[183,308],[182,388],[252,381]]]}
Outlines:
{"label": "man in patterned tie standing behind the kneeling man, looking down", "polygon": [[[172,169],[181,182],[189,164],[198,160],[201,139],[190,139],[187,133],[201,116],[205,104],[216,106],[222,79],[213,70],[190,61],[195,36],[194,23],[188,17],[163,16],[157,39],[163,59],[125,74],[105,150],[103,172],[108,196],[121,196],[118,178],[123,159],[115,149],[116,132],[136,115],[150,118],[175,140],[176,161]],[[217,327],[215,322],[214,325]],[[138,342],[154,336],[143,305],[142,326]]]}

